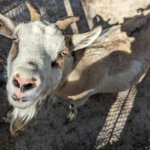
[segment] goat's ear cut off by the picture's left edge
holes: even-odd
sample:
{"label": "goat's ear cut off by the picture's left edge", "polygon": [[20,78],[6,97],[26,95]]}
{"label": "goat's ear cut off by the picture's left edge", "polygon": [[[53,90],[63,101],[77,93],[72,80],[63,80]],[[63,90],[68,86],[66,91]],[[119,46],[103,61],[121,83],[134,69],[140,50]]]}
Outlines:
{"label": "goat's ear cut off by the picture's left edge", "polygon": [[0,34],[12,38],[16,23],[10,18],[0,14]]}

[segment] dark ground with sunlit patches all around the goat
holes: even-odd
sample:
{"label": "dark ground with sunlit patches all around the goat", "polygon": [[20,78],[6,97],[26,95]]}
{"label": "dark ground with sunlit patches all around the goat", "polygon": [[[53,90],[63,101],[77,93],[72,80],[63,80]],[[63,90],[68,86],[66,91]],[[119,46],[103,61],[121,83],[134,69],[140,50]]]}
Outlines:
{"label": "dark ground with sunlit patches all around the goat", "polygon": [[[0,0],[0,13],[17,22],[29,19],[25,0]],[[32,0],[42,18],[55,22],[67,15],[80,21],[67,30],[83,33],[96,25],[103,29],[121,24],[150,10],[150,0]],[[6,59],[11,41],[0,36],[0,150],[150,150],[150,71],[129,90],[92,96],[66,123],[68,104],[53,107],[44,100],[37,116],[15,137],[4,122],[11,109],[7,102]]]}

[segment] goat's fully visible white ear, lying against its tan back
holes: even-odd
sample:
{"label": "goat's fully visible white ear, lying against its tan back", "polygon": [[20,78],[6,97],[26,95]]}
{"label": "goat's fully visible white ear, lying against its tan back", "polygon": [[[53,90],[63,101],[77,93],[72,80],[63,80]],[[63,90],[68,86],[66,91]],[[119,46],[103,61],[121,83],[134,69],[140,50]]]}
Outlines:
{"label": "goat's fully visible white ear, lying against its tan back", "polygon": [[83,34],[74,34],[72,36],[73,51],[85,48],[93,43],[102,31],[102,27],[98,26],[89,32]]}

